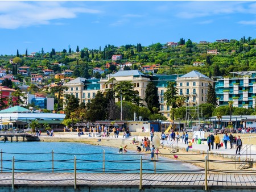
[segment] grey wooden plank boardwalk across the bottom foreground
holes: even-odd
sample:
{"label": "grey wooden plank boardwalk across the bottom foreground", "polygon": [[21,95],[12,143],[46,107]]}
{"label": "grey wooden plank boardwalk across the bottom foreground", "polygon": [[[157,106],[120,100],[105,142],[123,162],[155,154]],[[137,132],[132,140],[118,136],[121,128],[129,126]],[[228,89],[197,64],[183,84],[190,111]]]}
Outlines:
{"label": "grey wooden plank boardwalk across the bottom foreground", "polygon": [[[139,173],[15,173],[14,188],[26,187],[135,187],[139,190]],[[208,189],[224,187],[225,190],[256,190],[256,174],[208,174]],[[0,173],[0,186],[11,187],[12,173]],[[204,173],[144,173],[142,186],[158,188],[197,188],[205,190]],[[0,190],[1,191],[1,190]],[[181,190],[182,191],[182,190]]]}

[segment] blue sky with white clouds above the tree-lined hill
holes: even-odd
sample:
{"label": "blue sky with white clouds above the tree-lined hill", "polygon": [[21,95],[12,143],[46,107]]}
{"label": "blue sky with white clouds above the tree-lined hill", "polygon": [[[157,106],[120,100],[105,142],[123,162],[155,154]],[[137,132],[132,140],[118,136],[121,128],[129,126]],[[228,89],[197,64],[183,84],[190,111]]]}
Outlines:
{"label": "blue sky with white clouds above the tree-lined hill", "polygon": [[0,55],[254,36],[254,1],[0,1]]}

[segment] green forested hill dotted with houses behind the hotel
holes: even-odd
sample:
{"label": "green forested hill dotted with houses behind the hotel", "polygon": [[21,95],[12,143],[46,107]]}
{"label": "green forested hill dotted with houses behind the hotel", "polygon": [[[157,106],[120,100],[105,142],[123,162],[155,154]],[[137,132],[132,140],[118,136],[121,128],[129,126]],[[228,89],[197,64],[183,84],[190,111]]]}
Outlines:
{"label": "green forested hill dotted with houses behind the hotel", "polygon": [[[2,68],[12,69],[9,59],[15,58],[20,66],[30,66],[31,72],[38,74],[43,73],[42,68],[52,69],[55,73],[61,72],[64,69],[73,70],[73,77],[83,76],[86,78],[92,77],[92,69],[99,67],[104,69],[107,62],[112,62],[112,55],[122,55],[122,60],[117,60],[117,63],[131,62],[132,69],[141,68],[143,65],[160,64],[161,68],[158,74],[180,74],[187,73],[191,70],[211,76],[228,76],[229,72],[256,70],[256,39],[242,37],[241,40],[230,40],[229,43],[193,43],[191,40],[181,38],[177,47],[170,47],[166,44],[156,43],[149,46],[123,45],[115,47],[114,45],[106,45],[99,49],[79,48],[72,50],[63,49],[63,51],[55,51],[45,53],[43,51],[35,53],[35,56],[30,56],[31,50],[27,53],[19,53],[16,55],[0,56],[0,64]],[[54,45],[52,45],[54,46]],[[28,48],[29,49],[29,48]],[[217,55],[207,53],[207,50],[217,49]],[[15,50],[16,52],[16,50]],[[26,56],[27,55],[27,56]],[[204,66],[192,66],[193,62],[204,62]],[[64,66],[51,65],[52,63],[63,63]],[[125,67],[125,69],[129,69]],[[101,76],[118,69],[112,66]],[[97,74],[98,76],[98,74]],[[98,77],[97,77],[98,78]]]}

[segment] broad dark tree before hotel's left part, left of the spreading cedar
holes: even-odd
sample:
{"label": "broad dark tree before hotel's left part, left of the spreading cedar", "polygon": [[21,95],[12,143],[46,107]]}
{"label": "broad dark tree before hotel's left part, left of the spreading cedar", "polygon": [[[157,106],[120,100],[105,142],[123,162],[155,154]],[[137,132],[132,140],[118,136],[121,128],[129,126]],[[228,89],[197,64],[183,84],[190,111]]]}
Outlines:
{"label": "broad dark tree before hotel's left part, left of the spreading cedar", "polygon": [[95,98],[91,99],[90,103],[87,103],[88,110],[86,111],[86,118],[92,122],[96,120],[105,120],[107,107],[107,99],[101,91],[98,91]]}

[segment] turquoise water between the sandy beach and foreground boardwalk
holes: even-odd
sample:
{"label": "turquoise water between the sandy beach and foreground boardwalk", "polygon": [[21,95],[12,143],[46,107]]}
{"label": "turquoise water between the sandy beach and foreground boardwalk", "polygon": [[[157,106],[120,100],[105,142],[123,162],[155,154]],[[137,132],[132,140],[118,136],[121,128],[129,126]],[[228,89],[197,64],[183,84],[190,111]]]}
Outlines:
{"label": "turquoise water between the sandy beach and foreground boardwalk", "polygon": [[[3,152],[3,171],[10,172],[12,158],[15,159],[15,172],[51,172],[52,171],[52,149],[54,172],[73,172],[74,156],[77,158],[77,172],[102,172],[103,149],[105,150],[105,172],[139,173],[139,153],[129,152],[119,154],[117,148],[94,146],[83,143],[65,142],[0,142]],[[27,154],[16,154],[27,153]],[[29,154],[40,153],[40,154]],[[42,153],[42,154],[41,154]],[[65,154],[60,154],[65,153]],[[86,153],[86,154],[84,154]],[[154,162],[150,154],[143,155],[143,172],[152,173]],[[159,161],[170,161],[159,155]],[[37,161],[37,162],[36,162]],[[156,170],[165,169],[168,172],[174,170],[192,170],[195,166],[180,164],[175,161],[156,162]]]}

